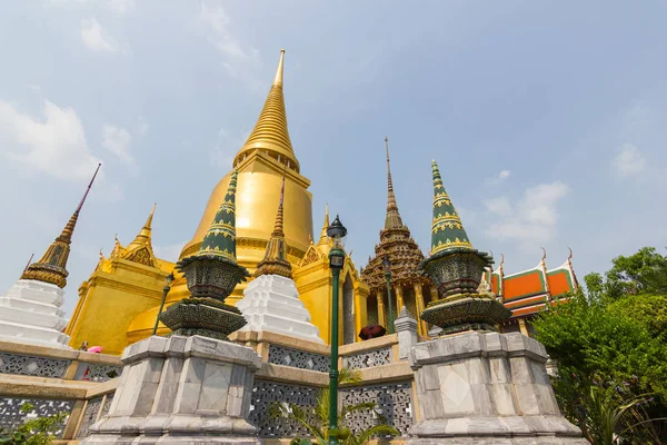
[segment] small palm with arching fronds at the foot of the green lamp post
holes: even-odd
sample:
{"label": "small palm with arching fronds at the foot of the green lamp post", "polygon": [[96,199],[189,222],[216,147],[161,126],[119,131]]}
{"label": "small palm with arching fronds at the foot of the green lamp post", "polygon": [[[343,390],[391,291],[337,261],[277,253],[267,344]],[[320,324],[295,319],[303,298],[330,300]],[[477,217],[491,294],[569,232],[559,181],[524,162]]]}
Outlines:
{"label": "small palm with arching fronds at the foot of the green lamp post", "polygon": [[[358,384],[361,383],[361,375],[359,372],[342,368],[340,369],[338,379],[341,385]],[[355,434],[346,426],[346,418],[349,414],[360,411],[375,412],[376,416],[380,419],[380,423]],[[329,388],[319,390],[313,407],[303,408],[296,404],[275,403],[271,405],[270,415],[273,417],[282,417],[303,426],[319,445],[329,443],[327,431],[329,424]],[[384,418],[381,414],[377,412],[377,404],[375,402],[344,405],[338,413],[339,443],[344,445],[362,445],[374,436],[398,436],[400,434],[400,432],[392,426],[382,424],[381,422],[384,422]],[[312,442],[308,438],[296,437],[292,439],[291,444],[310,445]]]}

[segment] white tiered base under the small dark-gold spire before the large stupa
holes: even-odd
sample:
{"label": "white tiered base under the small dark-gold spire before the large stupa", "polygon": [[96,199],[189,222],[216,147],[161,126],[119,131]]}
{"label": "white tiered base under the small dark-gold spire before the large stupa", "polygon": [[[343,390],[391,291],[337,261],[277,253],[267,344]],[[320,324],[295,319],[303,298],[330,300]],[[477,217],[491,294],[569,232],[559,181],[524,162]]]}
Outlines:
{"label": "white tiered base under the small dark-gold spire before the large stupa", "polygon": [[325,343],[319,329],[310,323],[310,314],[299,299],[295,281],[279,275],[255,278],[237,307],[248,320],[241,330],[268,330],[276,334]]}

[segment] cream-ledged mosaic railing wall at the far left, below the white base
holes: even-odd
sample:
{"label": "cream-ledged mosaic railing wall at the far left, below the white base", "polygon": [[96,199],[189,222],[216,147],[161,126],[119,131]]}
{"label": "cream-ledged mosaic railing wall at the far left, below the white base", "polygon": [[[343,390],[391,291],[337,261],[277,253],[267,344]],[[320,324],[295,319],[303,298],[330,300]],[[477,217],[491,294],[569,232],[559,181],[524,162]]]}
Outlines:
{"label": "cream-ledged mosaic railing wall at the far left, below the white base", "polygon": [[[0,342],[0,427],[66,412],[57,437],[87,435],[87,418],[108,409],[121,372],[117,356]],[[24,403],[31,413],[20,412]]]}

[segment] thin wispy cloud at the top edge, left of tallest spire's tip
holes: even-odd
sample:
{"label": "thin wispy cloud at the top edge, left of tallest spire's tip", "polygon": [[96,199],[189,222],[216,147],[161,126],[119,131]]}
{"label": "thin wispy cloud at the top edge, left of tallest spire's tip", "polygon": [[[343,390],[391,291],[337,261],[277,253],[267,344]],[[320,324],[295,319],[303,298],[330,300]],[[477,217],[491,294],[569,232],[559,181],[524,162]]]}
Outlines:
{"label": "thin wispy cloud at the top edge, left of tallest spire's tip", "polygon": [[209,40],[225,57],[222,66],[230,76],[247,78],[259,66],[259,50],[246,46],[231,31],[231,20],[220,4],[201,3],[197,22],[208,32]]}

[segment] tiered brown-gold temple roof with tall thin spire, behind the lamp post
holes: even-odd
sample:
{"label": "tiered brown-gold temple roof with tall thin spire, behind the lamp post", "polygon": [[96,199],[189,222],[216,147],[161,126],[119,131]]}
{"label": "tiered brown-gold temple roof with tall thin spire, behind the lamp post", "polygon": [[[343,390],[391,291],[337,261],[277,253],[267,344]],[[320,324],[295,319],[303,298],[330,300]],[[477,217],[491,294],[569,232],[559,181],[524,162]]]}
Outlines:
{"label": "tiered brown-gold temple roof with tall thin spire, behind the lamp post", "polygon": [[387,138],[385,138],[385,146],[387,150],[387,215],[385,217],[385,228],[380,230],[380,244],[375,246],[375,257],[368,258],[368,265],[361,269],[361,280],[370,287],[371,291],[385,289],[385,270],[382,268],[385,256],[388,256],[391,263],[391,281],[394,284],[428,283],[428,278],[418,271],[419,261],[424,259],[424,253],[412,239],[410,229],[404,225],[398,211],[391,180],[389,141]]}

